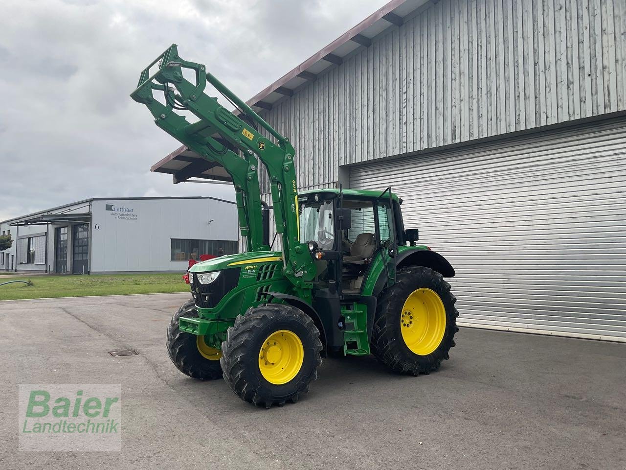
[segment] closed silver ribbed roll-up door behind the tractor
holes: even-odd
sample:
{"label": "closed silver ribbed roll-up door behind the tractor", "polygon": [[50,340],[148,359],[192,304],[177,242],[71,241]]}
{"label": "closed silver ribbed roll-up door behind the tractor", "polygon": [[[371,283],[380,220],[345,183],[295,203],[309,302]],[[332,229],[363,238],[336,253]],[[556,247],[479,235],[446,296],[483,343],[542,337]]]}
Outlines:
{"label": "closed silver ribbed roll-up door behind the tractor", "polygon": [[453,264],[459,324],[626,341],[626,119],[351,168]]}

